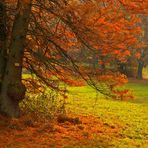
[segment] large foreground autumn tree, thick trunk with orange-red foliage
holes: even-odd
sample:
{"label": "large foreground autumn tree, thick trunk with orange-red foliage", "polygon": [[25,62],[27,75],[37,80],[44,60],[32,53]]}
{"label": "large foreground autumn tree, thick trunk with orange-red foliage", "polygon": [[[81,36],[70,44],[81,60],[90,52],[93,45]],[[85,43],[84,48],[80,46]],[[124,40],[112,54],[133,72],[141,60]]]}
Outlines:
{"label": "large foreground autumn tree, thick trunk with orange-red foliage", "polygon": [[0,112],[19,116],[26,92],[22,68],[61,93],[53,76],[69,85],[78,85],[73,76],[79,77],[108,95],[76,64],[72,52],[83,45],[88,55],[98,54],[100,65],[125,61],[129,48],[140,46],[135,36],[141,29],[132,14],[145,12],[144,7],[145,2],[124,0],[0,0]]}

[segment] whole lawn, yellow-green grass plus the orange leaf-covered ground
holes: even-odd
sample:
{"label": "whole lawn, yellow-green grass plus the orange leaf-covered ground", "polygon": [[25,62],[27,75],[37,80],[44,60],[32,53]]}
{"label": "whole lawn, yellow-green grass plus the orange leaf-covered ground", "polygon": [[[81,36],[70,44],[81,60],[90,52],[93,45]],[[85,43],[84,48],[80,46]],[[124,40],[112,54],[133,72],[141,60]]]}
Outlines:
{"label": "whole lawn, yellow-green grass plus the orange leaf-covered ground", "polygon": [[0,147],[147,148],[147,82],[130,80],[125,86],[135,94],[132,101],[104,98],[89,86],[70,87],[66,108],[72,120],[66,122],[34,113],[19,120],[0,117]]}

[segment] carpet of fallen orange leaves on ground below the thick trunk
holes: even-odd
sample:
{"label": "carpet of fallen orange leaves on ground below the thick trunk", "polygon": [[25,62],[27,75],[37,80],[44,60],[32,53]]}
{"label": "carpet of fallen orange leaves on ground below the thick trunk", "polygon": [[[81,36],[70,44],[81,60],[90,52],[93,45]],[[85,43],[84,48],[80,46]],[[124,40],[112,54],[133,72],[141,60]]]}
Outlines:
{"label": "carpet of fallen orange leaves on ground below the thick trunk", "polygon": [[[76,115],[69,115],[75,118]],[[0,116],[0,147],[41,147],[87,145],[89,141],[104,135],[116,136],[119,124],[109,125],[93,116],[78,116],[81,123],[39,119],[28,114],[21,119],[7,119]]]}

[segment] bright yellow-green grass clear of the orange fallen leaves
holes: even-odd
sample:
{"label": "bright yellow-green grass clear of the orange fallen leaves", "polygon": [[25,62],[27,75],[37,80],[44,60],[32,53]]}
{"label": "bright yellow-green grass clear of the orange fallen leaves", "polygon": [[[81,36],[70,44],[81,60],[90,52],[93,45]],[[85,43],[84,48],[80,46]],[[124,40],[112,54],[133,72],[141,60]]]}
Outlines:
{"label": "bright yellow-green grass clear of the orange fallen leaves", "polygon": [[[130,82],[125,87],[136,95],[133,101],[104,99],[88,86],[71,87],[68,109],[77,114],[94,115],[121,130],[108,140],[113,147],[148,147],[148,84]],[[110,139],[107,137],[106,139]]]}

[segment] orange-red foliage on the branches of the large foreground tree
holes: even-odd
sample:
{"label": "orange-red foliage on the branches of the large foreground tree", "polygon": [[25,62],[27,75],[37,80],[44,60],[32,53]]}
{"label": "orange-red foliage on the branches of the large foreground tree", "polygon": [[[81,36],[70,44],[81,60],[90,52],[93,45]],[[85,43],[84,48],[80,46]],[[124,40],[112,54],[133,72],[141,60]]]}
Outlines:
{"label": "orange-red foliage on the branches of the large foreground tree", "polygon": [[[57,6],[54,13],[46,11],[48,3],[43,9],[33,8],[34,19],[42,31],[37,29],[41,35],[36,38],[27,36],[28,47],[32,50],[26,48],[24,66],[32,69],[44,82],[54,76],[68,85],[83,85],[80,79],[77,81],[73,77],[73,71],[81,68],[74,70],[74,61],[71,63],[71,56],[68,57],[79,51],[82,44],[91,51],[88,56],[92,57],[91,54],[96,52],[99,65],[109,64],[115,59],[125,62],[132,53],[131,49],[143,46],[138,40],[142,29],[137,25],[140,19],[136,14],[146,13],[146,2],[96,0],[70,1],[65,5],[60,2],[62,9]],[[47,60],[49,65],[44,62]],[[80,73],[89,79],[83,70]]]}

